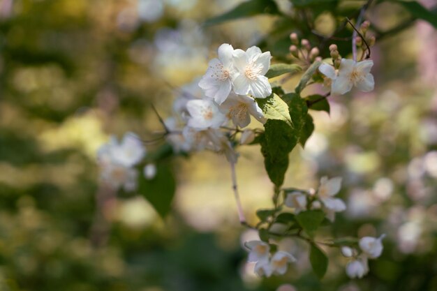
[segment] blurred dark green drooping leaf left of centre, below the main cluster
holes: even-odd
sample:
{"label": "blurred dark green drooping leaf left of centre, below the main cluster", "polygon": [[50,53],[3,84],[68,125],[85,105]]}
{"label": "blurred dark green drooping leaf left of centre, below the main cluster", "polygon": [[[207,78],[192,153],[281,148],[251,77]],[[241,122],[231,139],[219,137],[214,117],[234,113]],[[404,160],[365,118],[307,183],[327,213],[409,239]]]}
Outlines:
{"label": "blurred dark green drooping leaf left of centre, below the main cluster", "polygon": [[164,218],[171,209],[176,191],[175,177],[169,167],[158,165],[154,179],[147,180],[140,174],[138,193],[143,195],[156,212]]}

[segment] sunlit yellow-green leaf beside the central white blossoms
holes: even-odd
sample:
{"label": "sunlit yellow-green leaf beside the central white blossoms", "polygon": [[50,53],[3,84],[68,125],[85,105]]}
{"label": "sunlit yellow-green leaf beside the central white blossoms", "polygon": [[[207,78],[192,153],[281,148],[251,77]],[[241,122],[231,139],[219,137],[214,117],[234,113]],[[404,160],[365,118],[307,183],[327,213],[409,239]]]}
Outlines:
{"label": "sunlit yellow-green leaf beside the central white blossoms", "polygon": [[283,120],[292,126],[290,112],[288,112],[288,105],[281,99],[281,97],[272,94],[267,98],[257,98],[256,103],[258,103],[265,118]]}

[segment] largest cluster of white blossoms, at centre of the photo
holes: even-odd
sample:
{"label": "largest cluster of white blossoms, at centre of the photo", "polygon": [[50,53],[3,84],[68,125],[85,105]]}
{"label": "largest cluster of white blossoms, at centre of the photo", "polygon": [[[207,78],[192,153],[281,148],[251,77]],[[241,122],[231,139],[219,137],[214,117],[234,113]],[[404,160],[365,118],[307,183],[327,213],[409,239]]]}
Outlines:
{"label": "largest cluster of white blossoms, at centre of the photo", "polygon": [[[272,94],[265,77],[270,58],[270,52],[262,53],[259,47],[249,47],[246,52],[228,44],[218,47],[218,59],[209,61],[198,87],[191,84],[183,88],[173,106],[175,117],[165,121],[170,130],[168,140],[175,151],[212,149],[223,152],[228,161],[235,163],[237,154],[220,129],[228,121],[245,127],[251,122],[251,115],[262,124],[267,121],[255,98]],[[252,137],[253,133],[245,133],[242,143]]]}

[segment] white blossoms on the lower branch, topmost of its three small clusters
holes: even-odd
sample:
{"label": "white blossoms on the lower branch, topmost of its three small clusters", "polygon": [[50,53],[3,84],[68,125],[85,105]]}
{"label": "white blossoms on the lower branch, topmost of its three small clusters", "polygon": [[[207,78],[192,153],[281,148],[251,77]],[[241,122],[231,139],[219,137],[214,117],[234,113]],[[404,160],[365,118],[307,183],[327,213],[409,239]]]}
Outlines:
{"label": "white blossoms on the lower branch, topmost of its three small clusters", "polygon": [[341,177],[320,179],[320,186],[316,193],[303,191],[292,191],[286,196],[284,204],[292,207],[295,214],[309,209],[322,209],[330,221],[334,221],[335,213],[346,210],[346,204],[334,195],[339,193],[341,188]]}

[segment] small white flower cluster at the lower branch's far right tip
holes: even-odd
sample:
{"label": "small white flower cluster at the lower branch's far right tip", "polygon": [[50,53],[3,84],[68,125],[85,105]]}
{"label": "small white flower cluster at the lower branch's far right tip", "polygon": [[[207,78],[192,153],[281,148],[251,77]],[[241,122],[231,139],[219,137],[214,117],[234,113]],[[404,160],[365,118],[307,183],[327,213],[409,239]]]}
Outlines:
{"label": "small white flower cluster at the lower branch's far right tip", "polygon": [[346,258],[352,258],[346,265],[346,274],[350,278],[362,278],[369,272],[369,259],[378,258],[383,253],[383,238],[385,234],[380,237],[362,237],[359,242],[360,251],[349,246],[342,246],[341,253]]}

